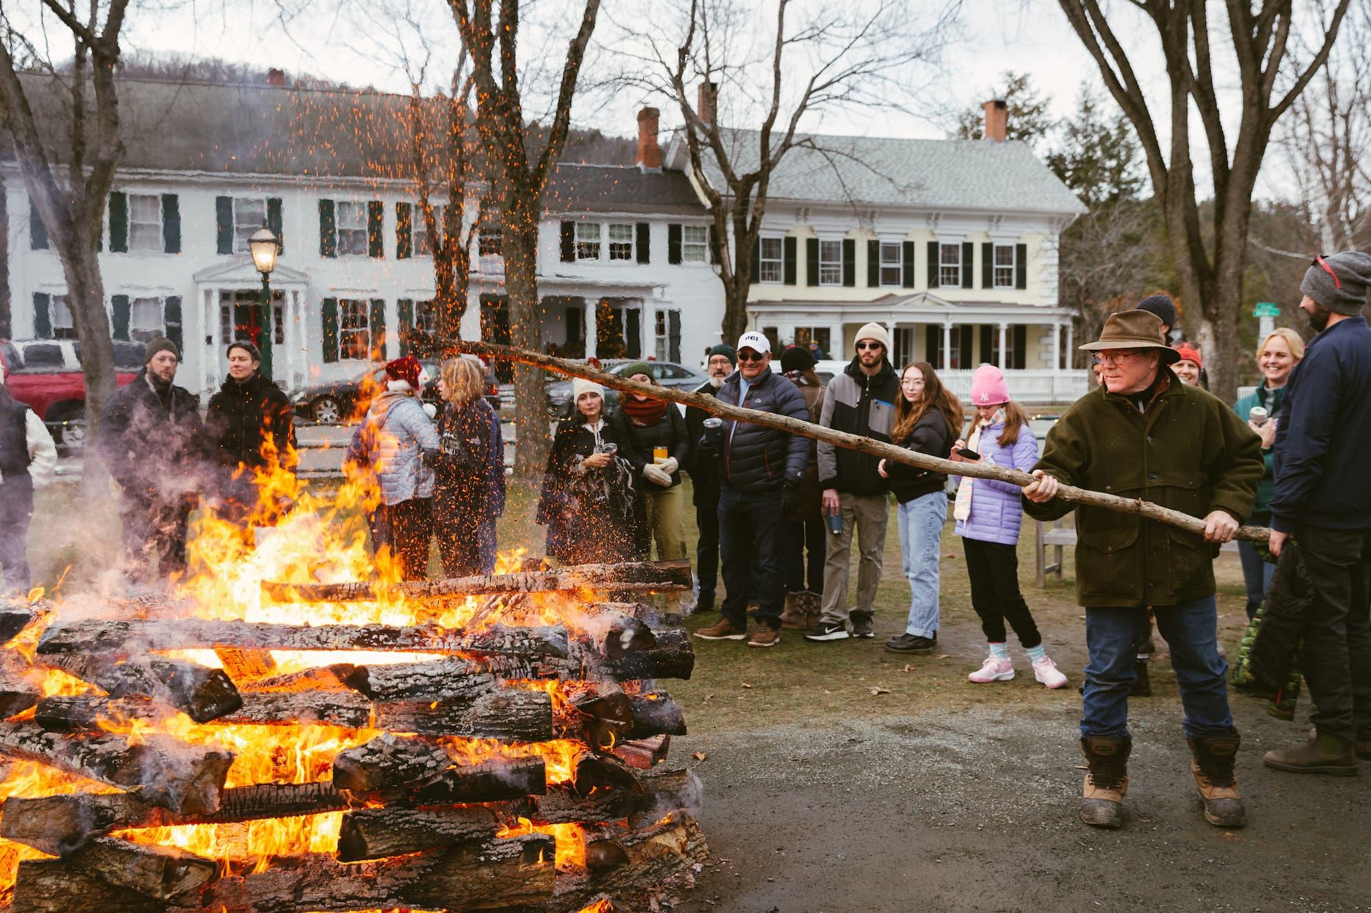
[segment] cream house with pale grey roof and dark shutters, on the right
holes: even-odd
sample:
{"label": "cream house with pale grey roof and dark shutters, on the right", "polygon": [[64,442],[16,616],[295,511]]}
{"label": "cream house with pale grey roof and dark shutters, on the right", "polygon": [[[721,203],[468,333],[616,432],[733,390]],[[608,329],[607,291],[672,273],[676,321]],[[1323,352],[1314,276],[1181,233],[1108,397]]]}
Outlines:
{"label": "cream house with pale grey roof and dark shutters, on the right", "polygon": [[[1023,143],[1006,143],[1004,103],[986,140],[809,136],[771,180],[750,324],[772,345],[818,343],[853,356],[875,321],[895,365],[927,361],[960,396],[976,365],[1001,366],[1016,399],[1072,402],[1072,314],[1057,297],[1061,232],[1084,206]],[[754,167],[757,134],[727,133]],[[677,137],[668,167],[687,167]],[[724,186],[717,169],[706,177]]]}

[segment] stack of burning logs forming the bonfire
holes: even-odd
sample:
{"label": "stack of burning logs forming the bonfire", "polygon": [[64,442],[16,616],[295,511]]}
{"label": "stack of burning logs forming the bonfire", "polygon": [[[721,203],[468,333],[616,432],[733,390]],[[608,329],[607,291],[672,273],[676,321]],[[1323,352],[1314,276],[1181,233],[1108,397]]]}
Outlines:
{"label": "stack of burning logs forming the bonfire", "polygon": [[[147,605],[138,617],[80,621],[29,607],[0,611],[5,642],[44,625],[32,665],[12,650],[0,664],[0,761],[36,761],[114,788],[4,802],[0,838],[58,857],[19,864],[12,909],[579,910],[603,897],[617,909],[646,902],[707,851],[690,814],[698,779],[661,764],[686,722],[653,681],[690,677],[690,639],[657,626],[646,603],[583,602],[576,621],[553,626],[521,625],[517,611],[540,588],[690,585],[688,565],[632,565],[618,576],[613,568],[428,584],[448,585],[424,595],[495,594],[485,622],[491,606],[500,620],[463,629],[210,621],[186,617],[182,606]],[[363,585],[324,596],[299,589],[307,598],[370,595]],[[217,651],[225,669],[160,655],[197,648]],[[330,654],[326,665],[281,674],[271,650]],[[347,662],[347,651],[440,655],[383,665]],[[34,681],[43,669],[92,688],[41,696]],[[319,724],[381,735],[339,751],[332,780],[225,787],[233,754],[160,733],[158,721],[175,713],[210,729]],[[110,721],[149,725],[134,736]],[[472,762],[454,738],[496,739],[510,750]],[[550,784],[544,758],[520,746],[554,739],[574,744],[569,754],[563,744],[570,779]],[[136,842],[144,828],[328,812],[345,813],[333,855],[244,864]],[[559,824],[580,825],[581,862],[557,868],[554,836],[535,831]]]}

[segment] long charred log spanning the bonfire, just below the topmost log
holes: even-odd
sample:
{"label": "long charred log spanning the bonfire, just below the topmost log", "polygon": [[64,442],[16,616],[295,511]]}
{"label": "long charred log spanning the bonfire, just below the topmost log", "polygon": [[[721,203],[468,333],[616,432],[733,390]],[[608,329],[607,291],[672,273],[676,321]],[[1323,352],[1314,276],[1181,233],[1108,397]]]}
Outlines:
{"label": "long charred log spanning the bonfire, just below the topmost log", "polygon": [[49,626],[38,654],[137,654],[148,647],[236,650],[402,650],[565,657],[566,628],[452,631],[439,625],[276,625],[247,621],[73,621]]}

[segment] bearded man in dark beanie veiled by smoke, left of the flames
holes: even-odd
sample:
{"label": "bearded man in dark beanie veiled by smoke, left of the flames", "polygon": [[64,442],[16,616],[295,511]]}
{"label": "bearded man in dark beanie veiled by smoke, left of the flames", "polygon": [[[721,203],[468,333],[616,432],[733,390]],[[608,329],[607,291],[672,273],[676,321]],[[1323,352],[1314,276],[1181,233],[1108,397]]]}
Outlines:
{"label": "bearded man in dark beanie veiled by smoke, left of the flames", "polygon": [[119,518],[133,580],[151,577],[154,554],[162,577],[185,570],[191,507],[204,481],[200,403],[173,382],[178,362],[171,340],[148,343],[143,372],[106,400],[100,418],[100,456],[123,487]]}

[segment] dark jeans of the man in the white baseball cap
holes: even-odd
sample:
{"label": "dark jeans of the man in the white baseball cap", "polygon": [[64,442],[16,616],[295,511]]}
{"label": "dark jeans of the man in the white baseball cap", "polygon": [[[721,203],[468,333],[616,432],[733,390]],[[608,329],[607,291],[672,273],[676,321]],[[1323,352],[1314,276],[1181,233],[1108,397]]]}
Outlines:
{"label": "dark jeans of the man in the white baseball cap", "polygon": [[720,613],[747,626],[747,596],[757,600],[757,621],[780,628],[786,602],[784,521],[780,494],[746,495],[724,485],[718,494],[718,557],[724,573]]}

